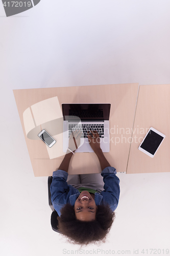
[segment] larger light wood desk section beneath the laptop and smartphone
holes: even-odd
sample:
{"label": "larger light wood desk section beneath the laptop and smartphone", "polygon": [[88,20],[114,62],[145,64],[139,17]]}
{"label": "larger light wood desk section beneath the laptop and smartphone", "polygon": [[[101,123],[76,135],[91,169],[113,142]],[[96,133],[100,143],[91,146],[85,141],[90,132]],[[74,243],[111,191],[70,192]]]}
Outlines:
{"label": "larger light wood desk section beneath the laptop and smartphone", "polygon": [[[110,152],[104,153],[104,155],[117,172],[126,172],[137,91],[138,83],[13,90],[34,175],[52,176],[53,171],[58,169],[65,153],[60,157],[50,159],[45,143],[40,139],[27,137],[23,113],[27,112],[32,105],[55,96],[58,97],[60,108],[62,103],[111,103]],[[33,121],[30,121],[30,125],[34,125]],[[39,127],[39,131],[37,130],[37,134],[41,128],[42,126]],[[129,133],[125,132],[127,128]],[[120,129],[122,130],[120,131]],[[62,139],[59,140],[56,148],[62,148]],[[100,162],[95,153],[77,153],[72,156],[68,174],[100,172]]]}

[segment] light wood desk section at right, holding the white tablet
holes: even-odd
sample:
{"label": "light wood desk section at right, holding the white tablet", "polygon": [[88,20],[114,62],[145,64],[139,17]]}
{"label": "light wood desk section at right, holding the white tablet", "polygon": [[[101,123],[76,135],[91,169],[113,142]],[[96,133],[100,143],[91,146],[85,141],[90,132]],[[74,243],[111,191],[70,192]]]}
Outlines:
{"label": "light wood desk section at right, holding the white tablet", "polygon": [[[170,84],[140,86],[127,174],[170,170]],[[150,127],[166,137],[153,158],[138,150]],[[135,138],[136,136],[136,138]],[[136,140],[136,141],[135,141]]]}

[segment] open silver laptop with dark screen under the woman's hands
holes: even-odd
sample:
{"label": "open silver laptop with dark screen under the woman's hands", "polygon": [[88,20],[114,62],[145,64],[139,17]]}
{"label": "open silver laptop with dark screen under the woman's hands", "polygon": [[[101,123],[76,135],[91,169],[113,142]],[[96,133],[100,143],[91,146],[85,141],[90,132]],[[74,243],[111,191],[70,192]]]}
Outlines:
{"label": "open silver laptop with dark screen under the woman's hands", "polygon": [[98,131],[103,152],[110,151],[110,103],[64,103],[63,152],[67,151],[71,131],[81,130],[80,146],[76,152],[94,152],[89,145],[87,131]]}

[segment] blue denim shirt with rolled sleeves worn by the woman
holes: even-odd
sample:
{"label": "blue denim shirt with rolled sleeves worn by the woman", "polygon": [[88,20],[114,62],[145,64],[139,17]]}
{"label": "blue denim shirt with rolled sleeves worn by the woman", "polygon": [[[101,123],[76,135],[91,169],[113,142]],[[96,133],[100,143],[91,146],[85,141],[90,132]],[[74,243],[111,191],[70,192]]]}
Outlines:
{"label": "blue denim shirt with rolled sleeves worn by the woman", "polygon": [[[112,211],[117,208],[120,187],[119,178],[116,176],[116,169],[108,166],[102,170],[101,175],[104,181],[104,190],[101,193],[94,194],[94,201],[96,205],[109,204]],[[66,180],[68,173],[65,170],[56,170],[53,172],[53,181],[50,187],[51,200],[55,210],[60,216],[60,209],[66,204],[75,205],[76,199],[80,192],[74,186],[67,184]]]}

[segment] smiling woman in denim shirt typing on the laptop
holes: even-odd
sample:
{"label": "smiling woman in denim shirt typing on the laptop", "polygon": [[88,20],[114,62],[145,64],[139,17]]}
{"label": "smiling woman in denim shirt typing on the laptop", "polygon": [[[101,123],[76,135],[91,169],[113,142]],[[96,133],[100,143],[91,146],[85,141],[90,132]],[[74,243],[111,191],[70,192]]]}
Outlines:
{"label": "smiling woman in denim shirt typing on the laptop", "polygon": [[[51,199],[58,212],[58,228],[75,244],[105,242],[115,218],[119,200],[116,169],[106,160],[96,131],[88,132],[88,142],[101,164],[101,174],[68,175],[68,166],[80,145],[80,131],[69,137],[66,155],[53,173]],[[77,144],[77,147],[76,147]],[[103,177],[103,178],[102,178]]]}

